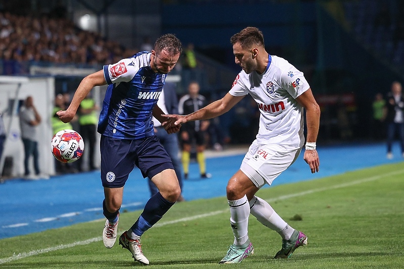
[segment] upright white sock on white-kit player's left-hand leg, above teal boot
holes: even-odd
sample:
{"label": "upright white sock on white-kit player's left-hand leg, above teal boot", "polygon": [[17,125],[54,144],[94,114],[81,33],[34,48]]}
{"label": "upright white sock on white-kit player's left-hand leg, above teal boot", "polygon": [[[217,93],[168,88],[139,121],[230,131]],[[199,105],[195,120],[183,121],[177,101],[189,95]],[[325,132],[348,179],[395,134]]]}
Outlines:
{"label": "upright white sock on white-kit player's left-hand leg, above teal boot", "polygon": [[242,245],[248,241],[249,204],[247,196],[230,201],[230,223],[234,234],[234,245]]}

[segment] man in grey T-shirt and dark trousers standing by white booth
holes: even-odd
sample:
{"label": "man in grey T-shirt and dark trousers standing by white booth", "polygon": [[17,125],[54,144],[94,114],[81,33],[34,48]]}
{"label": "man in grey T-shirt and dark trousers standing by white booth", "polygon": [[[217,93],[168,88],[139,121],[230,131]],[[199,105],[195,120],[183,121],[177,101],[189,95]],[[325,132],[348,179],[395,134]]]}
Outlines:
{"label": "man in grey T-shirt and dark trousers standing by white booth", "polygon": [[[24,177],[26,179],[39,179],[39,154],[37,127],[41,123],[41,117],[36,110],[32,96],[25,99],[20,109],[21,138],[24,144]],[[35,175],[30,175],[29,159],[33,156]]]}

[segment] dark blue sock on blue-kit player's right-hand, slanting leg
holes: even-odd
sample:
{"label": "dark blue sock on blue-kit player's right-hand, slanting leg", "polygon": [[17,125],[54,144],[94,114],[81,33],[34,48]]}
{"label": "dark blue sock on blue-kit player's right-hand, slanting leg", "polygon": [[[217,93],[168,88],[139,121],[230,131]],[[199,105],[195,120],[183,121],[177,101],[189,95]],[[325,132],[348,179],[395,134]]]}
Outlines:
{"label": "dark blue sock on blue-kit player's right-hand, slanting leg", "polygon": [[160,192],[151,196],[144,206],[139,219],[137,219],[135,224],[131,227],[133,233],[142,236],[145,231],[155,225],[163,217],[173,204],[174,203],[166,200]]}

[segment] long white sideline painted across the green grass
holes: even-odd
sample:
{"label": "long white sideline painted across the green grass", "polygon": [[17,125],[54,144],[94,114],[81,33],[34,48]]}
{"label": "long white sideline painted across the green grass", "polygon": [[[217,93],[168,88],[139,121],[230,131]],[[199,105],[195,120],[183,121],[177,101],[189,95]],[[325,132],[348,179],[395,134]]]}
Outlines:
{"label": "long white sideline painted across the green grass", "polygon": [[[334,186],[330,186],[330,187],[326,187],[326,188],[318,188],[318,189],[312,189],[312,190],[302,191],[302,192],[298,192],[298,193],[293,193],[293,194],[289,194],[289,195],[282,195],[282,196],[279,196],[277,198],[268,199],[267,201],[285,200],[285,199],[288,199],[288,198],[291,198],[291,197],[298,197],[298,196],[304,196],[304,195],[307,195],[307,194],[312,194],[312,193],[321,192],[321,191],[328,191],[328,190],[345,188],[345,187],[358,185],[358,184],[366,183],[366,182],[370,182],[370,181],[375,181],[375,180],[381,179],[383,177],[394,176],[394,175],[398,175],[398,174],[402,174],[402,173],[404,173],[404,170],[394,171],[394,172],[390,172],[390,173],[387,173],[387,174],[384,174],[384,175],[373,176],[373,177],[369,177],[369,178],[355,180],[355,181],[352,181],[352,182],[338,184],[338,185],[334,185]],[[197,220],[197,219],[200,219],[200,218],[211,217],[211,216],[214,216],[214,215],[217,215],[217,214],[224,213],[227,210],[228,209],[226,209],[226,210],[218,210],[218,211],[213,211],[213,212],[209,212],[209,213],[205,213],[205,214],[195,215],[195,216],[192,216],[192,217],[177,219],[177,220],[174,220],[174,221],[157,223],[154,227],[162,227],[162,226],[166,226],[166,225],[169,225],[169,224],[176,224],[176,223],[179,223],[179,222],[192,221],[192,220]],[[101,241],[101,240],[103,240],[102,237],[94,237],[94,238],[91,238],[91,239],[87,239],[87,240],[84,240],[84,241],[78,241],[78,242],[74,242],[74,243],[71,243],[71,244],[65,244],[65,245],[59,245],[59,246],[56,246],[56,247],[49,247],[49,248],[44,248],[44,249],[32,250],[30,252],[23,252],[23,253],[19,253],[18,255],[13,255],[13,256],[8,257],[8,258],[0,259],[0,264],[10,262],[10,261],[14,261],[14,260],[18,260],[18,259],[22,259],[22,258],[26,258],[26,257],[33,256],[33,255],[38,255],[38,254],[42,254],[42,253],[46,253],[46,252],[50,252],[50,251],[59,250],[59,249],[65,249],[65,248],[79,246],[79,245],[87,245],[87,244],[90,244],[92,242],[97,242],[97,241]]]}

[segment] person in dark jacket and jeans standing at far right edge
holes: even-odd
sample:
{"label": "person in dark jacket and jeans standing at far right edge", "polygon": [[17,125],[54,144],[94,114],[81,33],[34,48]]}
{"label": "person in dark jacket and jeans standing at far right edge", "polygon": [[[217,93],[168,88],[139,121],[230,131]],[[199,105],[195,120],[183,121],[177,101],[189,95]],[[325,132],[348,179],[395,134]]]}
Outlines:
{"label": "person in dark jacket and jeans standing at far right edge", "polygon": [[387,94],[387,158],[392,159],[393,153],[391,146],[395,133],[398,132],[398,138],[401,145],[401,154],[404,157],[404,96],[402,95],[402,86],[398,81],[391,84],[391,91]]}

